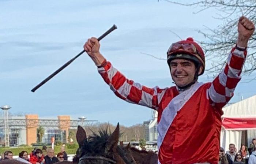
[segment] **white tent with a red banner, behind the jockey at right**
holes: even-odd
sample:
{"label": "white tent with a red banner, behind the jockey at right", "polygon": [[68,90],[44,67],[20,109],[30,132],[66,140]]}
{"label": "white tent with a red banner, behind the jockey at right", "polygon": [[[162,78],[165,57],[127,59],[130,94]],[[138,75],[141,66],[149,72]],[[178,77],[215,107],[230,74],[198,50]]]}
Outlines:
{"label": "white tent with a red banner, behind the jockey at right", "polygon": [[256,95],[222,108],[221,147],[226,151],[233,143],[240,149],[242,130],[247,131],[248,142],[256,138]]}

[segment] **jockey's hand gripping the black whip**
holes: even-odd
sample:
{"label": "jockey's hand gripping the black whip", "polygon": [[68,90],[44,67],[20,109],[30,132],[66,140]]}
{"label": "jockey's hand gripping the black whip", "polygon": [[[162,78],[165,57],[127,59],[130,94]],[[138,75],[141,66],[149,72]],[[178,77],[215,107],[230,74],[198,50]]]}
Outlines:
{"label": "jockey's hand gripping the black whip", "polygon": [[99,53],[99,41],[97,38],[90,38],[87,40],[87,42],[84,44],[83,48],[87,52],[87,54],[91,57],[95,56],[95,54]]}

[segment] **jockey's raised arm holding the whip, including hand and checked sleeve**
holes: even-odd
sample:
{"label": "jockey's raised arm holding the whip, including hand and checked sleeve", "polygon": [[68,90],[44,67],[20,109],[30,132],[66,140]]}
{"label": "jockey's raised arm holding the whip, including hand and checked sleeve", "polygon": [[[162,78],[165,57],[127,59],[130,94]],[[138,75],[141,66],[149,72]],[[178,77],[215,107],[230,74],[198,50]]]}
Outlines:
{"label": "jockey's raised arm holding the whip, including hand and checked sleeve", "polygon": [[127,102],[135,103],[157,110],[158,94],[162,95],[163,90],[158,87],[148,88],[146,86],[135,83],[127,79],[110,62],[107,62],[103,55],[99,52],[100,44],[97,38],[90,38],[84,44],[84,50],[94,61],[98,67],[104,81],[110,86],[119,98]]}

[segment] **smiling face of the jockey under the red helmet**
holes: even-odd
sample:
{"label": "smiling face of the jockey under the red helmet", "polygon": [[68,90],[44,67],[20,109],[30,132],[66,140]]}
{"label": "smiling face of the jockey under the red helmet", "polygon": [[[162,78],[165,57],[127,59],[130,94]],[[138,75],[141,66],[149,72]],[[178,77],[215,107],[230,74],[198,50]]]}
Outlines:
{"label": "smiling face of the jockey under the red helmet", "polygon": [[194,80],[196,66],[186,59],[174,59],[170,62],[170,72],[177,86],[183,87]]}

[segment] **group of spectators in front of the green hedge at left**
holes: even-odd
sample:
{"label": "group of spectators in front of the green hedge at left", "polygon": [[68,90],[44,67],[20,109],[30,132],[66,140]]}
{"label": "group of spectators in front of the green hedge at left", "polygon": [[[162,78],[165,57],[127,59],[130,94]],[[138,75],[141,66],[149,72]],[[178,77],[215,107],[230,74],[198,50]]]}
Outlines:
{"label": "group of spectators in front of the green hedge at left", "polygon": [[52,148],[43,146],[42,149],[34,148],[30,153],[22,151],[19,153],[17,159],[13,159],[13,153],[11,151],[5,151],[0,160],[18,160],[27,164],[53,164],[68,160],[68,155],[65,152],[64,146],[62,146],[60,152],[57,153],[57,157]]}

